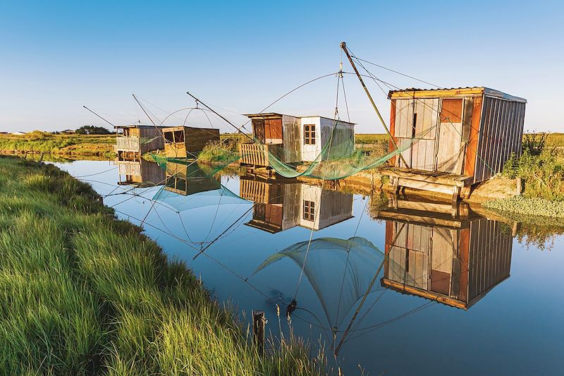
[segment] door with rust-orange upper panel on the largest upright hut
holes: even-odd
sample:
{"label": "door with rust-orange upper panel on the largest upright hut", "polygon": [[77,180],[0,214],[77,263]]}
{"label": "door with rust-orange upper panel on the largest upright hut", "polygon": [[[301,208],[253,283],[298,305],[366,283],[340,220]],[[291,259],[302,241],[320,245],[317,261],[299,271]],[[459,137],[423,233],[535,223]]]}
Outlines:
{"label": "door with rust-orange upper panel on the largest upright hut", "polygon": [[443,99],[439,137],[436,142],[436,171],[462,174],[462,98]]}

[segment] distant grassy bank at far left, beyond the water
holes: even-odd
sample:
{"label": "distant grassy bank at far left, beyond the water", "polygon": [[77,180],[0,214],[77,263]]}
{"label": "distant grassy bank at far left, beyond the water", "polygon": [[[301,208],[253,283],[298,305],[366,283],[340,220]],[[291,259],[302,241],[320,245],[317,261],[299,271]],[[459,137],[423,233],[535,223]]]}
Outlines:
{"label": "distant grassy bank at far left, beyond the water", "polygon": [[0,135],[3,154],[49,153],[108,156],[113,153],[116,135],[54,135],[34,131],[25,135]]}

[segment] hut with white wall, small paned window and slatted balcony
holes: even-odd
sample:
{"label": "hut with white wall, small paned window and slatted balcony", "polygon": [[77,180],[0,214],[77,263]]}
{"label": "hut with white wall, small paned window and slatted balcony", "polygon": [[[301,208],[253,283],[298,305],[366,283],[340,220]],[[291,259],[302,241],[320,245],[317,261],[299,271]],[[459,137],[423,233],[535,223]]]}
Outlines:
{"label": "hut with white wall, small paned window and slatted balcony", "polygon": [[240,163],[248,166],[269,167],[269,155],[285,163],[312,162],[321,153],[321,148],[329,142],[333,134],[335,145],[345,145],[353,140],[352,150],[333,150],[333,152],[354,151],[355,124],[335,121],[323,116],[290,116],[276,114],[247,114],[251,119],[252,135],[257,142],[239,145]]}

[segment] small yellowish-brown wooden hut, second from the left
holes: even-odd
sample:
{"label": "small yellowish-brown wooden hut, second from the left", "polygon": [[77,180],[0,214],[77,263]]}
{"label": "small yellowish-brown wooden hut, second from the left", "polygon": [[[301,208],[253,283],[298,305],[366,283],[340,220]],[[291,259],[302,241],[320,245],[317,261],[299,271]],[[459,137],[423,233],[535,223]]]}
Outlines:
{"label": "small yellowish-brown wooden hut, second from the left", "polygon": [[219,129],[187,126],[163,128],[164,154],[170,158],[192,158],[210,141],[219,142]]}

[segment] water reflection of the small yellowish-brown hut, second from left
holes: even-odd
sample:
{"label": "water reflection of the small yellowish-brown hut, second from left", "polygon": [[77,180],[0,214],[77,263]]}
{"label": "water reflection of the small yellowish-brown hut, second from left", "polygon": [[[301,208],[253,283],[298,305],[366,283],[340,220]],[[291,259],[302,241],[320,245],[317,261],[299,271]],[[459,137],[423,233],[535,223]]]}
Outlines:
{"label": "water reflection of the small yellowish-brown hut, second from left", "polygon": [[165,190],[179,195],[192,195],[221,188],[216,178],[207,176],[197,163],[166,162]]}

